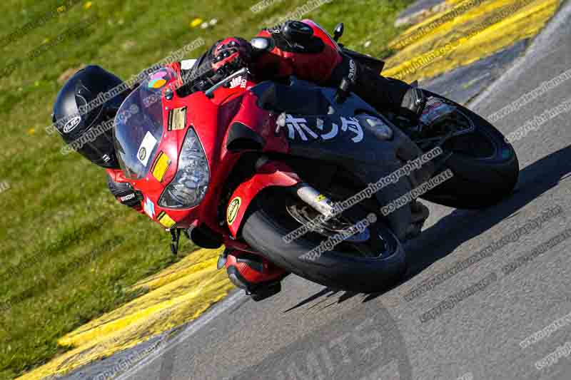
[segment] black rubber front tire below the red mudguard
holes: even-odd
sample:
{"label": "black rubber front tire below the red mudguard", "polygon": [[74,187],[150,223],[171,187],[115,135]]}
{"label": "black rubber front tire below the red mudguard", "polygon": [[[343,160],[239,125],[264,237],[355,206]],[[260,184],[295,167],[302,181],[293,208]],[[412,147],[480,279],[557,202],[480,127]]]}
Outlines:
{"label": "black rubber front tire below the red mudguard", "polygon": [[[295,200],[284,190],[269,188],[261,192],[249,207],[242,228],[244,240],[268,260],[310,281],[353,292],[379,292],[403,277],[405,251],[393,232],[381,222],[370,225],[384,242],[385,252],[380,257],[350,256],[345,252],[346,246],[341,249],[347,244],[342,242],[314,261],[300,259],[327,237],[308,232],[291,242],[283,240],[285,235],[300,227],[300,223],[285,211],[288,202]],[[373,236],[376,235],[371,233]]]}

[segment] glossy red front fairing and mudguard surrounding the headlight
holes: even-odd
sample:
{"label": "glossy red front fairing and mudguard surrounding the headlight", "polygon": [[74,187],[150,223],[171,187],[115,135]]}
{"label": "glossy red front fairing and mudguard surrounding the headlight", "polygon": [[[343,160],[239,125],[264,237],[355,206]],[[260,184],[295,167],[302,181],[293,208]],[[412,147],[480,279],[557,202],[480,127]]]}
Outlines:
{"label": "glossy red front fairing and mudguard surrounding the headlight", "polygon": [[[167,228],[188,228],[206,225],[211,230],[223,236],[223,242],[227,247],[252,252],[251,248],[243,242],[233,240],[241,225],[242,217],[253,197],[259,191],[268,186],[293,186],[300,180],[293,171],[282,163],[266,163],[258,173],[249,178],[246,183],[238,185],[234,192],[240,196],[242,204],[238,215],[231,223],[221,225],[221,220],[226,220],[228,205],[222,204],[223,190],[226,190],[228,176],[238,163],[243,153],[232,153],[226,149],[228,133],[233,123],[241,123],[251,128],[263,138],[264,152],[287,154],[289,152],[288,140],[281,130],[276,133],[276,118],[278,115],[271,111],[263,110],[257,105],[258,97],[249,88],[257,83],[249,78],[238,78],[228,87],[218,88],[212,98],[208,98],[203,92],[196,92],[189,96],[179,97],[176,91],[172,91],[168,98],[164,96],[168,88],[175,89],[180,80],[178,67],[171,66],[177,71],[178,78],[173,78],[161,88],[163,94],[161,106],[163,109],[163,135],[158,143],[156,155],[149,160],[149,167],[159,165],[160,153],[163,160],[168,158],[168,165],[164,173],[157,178],[153,170],[141,179],[126,179],[121,171],[108,171],[114,179],[120,182],[128,182],[133,188],[143,193],[141,202],[143,210],[151,217]],[[183,128],[169,128],[169,113],[172,110],[186,108],[186,120]],[[208,190],[203,200],[188,209],[170,209],[158,205],[166,187],[176,177],[178,159],[188,129],[193,128],[198,135],[208,162],[210,180]],[[160,165],[159,165],[160,167]],[[232,199],[232,198],[231,198]]]}

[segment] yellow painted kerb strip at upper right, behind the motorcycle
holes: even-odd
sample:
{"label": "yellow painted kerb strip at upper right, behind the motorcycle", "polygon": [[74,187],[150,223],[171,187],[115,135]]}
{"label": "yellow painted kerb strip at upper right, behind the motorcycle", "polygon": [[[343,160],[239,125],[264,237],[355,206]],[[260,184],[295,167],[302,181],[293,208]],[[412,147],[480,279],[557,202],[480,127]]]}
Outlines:
{"label": "yellow painted kerb strip at upper right, behind the motorcycle", "polygon": [[560,0],[468,0],[455,7],[467,9],[466,4],[475,1],[480,5],[458,12],[453,19],[438,21],[455,8],[435,14],[392,41],[392,46],[405,47],[387,60],[383,76],[411,82],[473,63],[535,36],[560,5]]}

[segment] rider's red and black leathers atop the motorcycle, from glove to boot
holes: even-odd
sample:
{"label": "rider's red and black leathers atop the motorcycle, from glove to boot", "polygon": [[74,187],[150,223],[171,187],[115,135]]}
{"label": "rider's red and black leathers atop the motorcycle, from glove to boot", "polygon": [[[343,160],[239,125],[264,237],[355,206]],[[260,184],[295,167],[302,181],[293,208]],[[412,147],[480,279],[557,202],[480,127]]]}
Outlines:
{"label": "rider's red and black leathers atop the motorcycle, from glove to boot", "polygon": [[[303,43],[291,41],[283,31],[288,23],[310,26],[318,34]],[[204,91],[233,71],[248,66],[259,80],[294,75],[305,81],[336,87],[343,78],[350,78],[353,81],[351,91],[371,106],[410,118],[420,117],[425,105],[421,91],[403,81],[380,76],[368,66],[344,56],[330,44],[324,43],[320,36],[325,32],[313,21],[288,23],[263,29],[252,40],[258,43],[266,40],[263,49],[253,48],[243,38],[231,37],[215,43],[190,70],[181,70],[180,63],[173,63],[172,68],[180,73],[184,83],[181,93]]]}

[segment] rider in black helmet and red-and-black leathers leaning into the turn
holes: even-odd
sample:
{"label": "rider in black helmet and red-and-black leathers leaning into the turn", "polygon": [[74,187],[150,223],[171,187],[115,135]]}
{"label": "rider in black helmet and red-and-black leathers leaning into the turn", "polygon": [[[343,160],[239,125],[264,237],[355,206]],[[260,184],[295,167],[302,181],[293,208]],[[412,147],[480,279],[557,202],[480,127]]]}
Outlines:
{"label": "rider in black helmet and red-and-black leathers leaning into the turn", "polygon": [[[178,95],[205,91],[247,66],[257,80],[295,75],[323,86],[339,86],[345,78],[352,85],[351,91],[371,106],[381,111],[393,111],[413,121],[420,118],[426,103],[422,91],[403,81],[380,76],[379,72],[345,56],[316,36],[307,37],[310,26],[320,28],[310,20],[287,21],[263,29],[251,42],[239,37],[226,38],[214,43],[197,60],[171,63],[169,66],[178,75]],[[56,125],[66,143],[71,144],[98,125],[113,120],[128,91],[85,115],[77,114],[79,107],[121,83],[121,79],[103,68],[87,66],[64,84],[56,98],[52,118],[54,123],[68,120],[65,125]],[[119,202],[142,212],[142,195],[123,180],[112,128],[76,150],[106,168],[108,188]],[[224,252],[219,268],[222,265],[228,269],[231,281],[251,294],[275,294],[279,291],[279,282],[287,275],[271,262],[246,252]]]}

